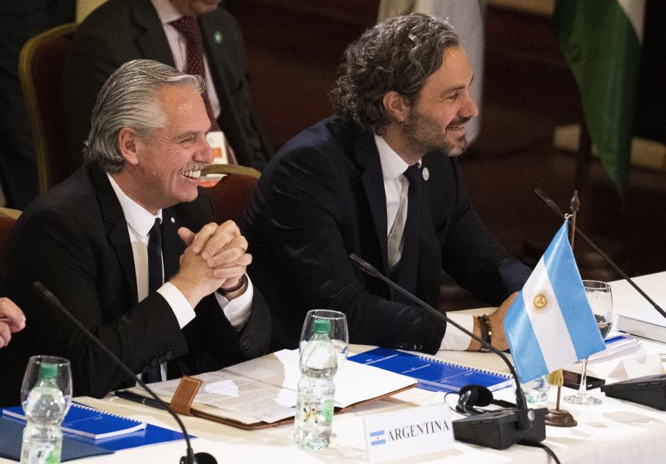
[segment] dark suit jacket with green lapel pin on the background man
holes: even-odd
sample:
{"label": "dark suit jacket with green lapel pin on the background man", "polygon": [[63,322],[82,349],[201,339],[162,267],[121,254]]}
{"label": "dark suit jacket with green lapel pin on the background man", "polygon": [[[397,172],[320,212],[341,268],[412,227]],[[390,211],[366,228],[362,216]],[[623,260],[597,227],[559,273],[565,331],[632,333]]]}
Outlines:
{"label": "dark suit jacket with green lapel pin on the background man", "polygon": [[[218,123],[239,163],[260,170],[272,150],[259,140],[238,24],[222,8],[201,15],[199,24],[220,100]],[[221,33],[220,43],[214,40],[217,33]],[[167,36],[150,0],[110,0],[78,26],[62,77],[72,172],[81,165],[83,141],[88,138],[99,89],[121,64],[137,58],[175,66]]]}

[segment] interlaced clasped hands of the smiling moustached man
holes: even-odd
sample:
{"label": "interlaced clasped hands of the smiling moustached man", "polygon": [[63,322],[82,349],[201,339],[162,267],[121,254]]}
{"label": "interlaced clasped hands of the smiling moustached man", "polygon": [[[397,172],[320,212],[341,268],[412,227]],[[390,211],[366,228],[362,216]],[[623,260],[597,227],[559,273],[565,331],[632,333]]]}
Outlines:
{"label": "interlaced clasped hands of the smiling moustached man", "polygon": [[216,289],[237,285],[252,262],[252,256],[246,253],[248,241],[233,221],[220,225],[211,222],[198,233],[181,227],[178,235],[187,248],[180,256],[180,271],[171,283],[193,307]]}

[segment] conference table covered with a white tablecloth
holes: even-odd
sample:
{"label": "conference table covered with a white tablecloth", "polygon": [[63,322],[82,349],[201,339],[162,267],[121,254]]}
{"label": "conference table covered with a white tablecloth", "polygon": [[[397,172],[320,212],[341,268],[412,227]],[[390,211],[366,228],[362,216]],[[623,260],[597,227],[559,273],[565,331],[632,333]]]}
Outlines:
{"label": "conference table covered with a white tablecloth", "polygon": [[[645,276],[654,282],[666,282],[666,272]],[[638,280],[640,282],[640,279]],[[613,285],[615,290],[617,285]],[[666,300],[666,286],[658,285],[659,295],[651,294],[658,301]],[[628,292],[624,285],[618,292]],[[617,294],[616,301],[634,303],[635,300]],[[622,303],[624,304],[624,303]],[[641,303],[642,304],[642,303]],[[623,309],[624,310],[624,309]],[[648,351],[664,353],[666,347],[660,343],[642,341]],[[360,352],[368,347],[351,346],[351,351]],[[447,360],[463,361],[476,366],[502,369],[506,367],[492,353],[447,353]],[[563,395],[573,391],[563,388]],[[547,407],[554,408],[556,388],[549,393]],[[543,443],[550,447],[561,463],[663,463],[666,462],[666,412],[640,404],[607,398],[598,389],[590,391],[603,400],[599,406],[579,406],[565,404],[563,409],[572,413],[578,421],[577,427],[546,427]],[[513,389],[508,387],[495,392],[495,398],[515,400]],[[130,402],[108,395],[103,399],[76,398],[92,407],[149,422],[162,427],[177,429],[176,422],[166,411],[143,404]],[[334,416],[334,438],[328,449],[302,451],[293,445],[291,425],[244,431],[202,418],[182,417],[190,434],[195,452],[207,452],[216,457],[219,463],[364,463],[367,461],[364,442],[363,418],[375,413],[398,411],[420,405],[447,402],[454,407],[457,396],[445,398],[443,393],[409,389],[389,398],[363,404],[356,409]],[[459,418],[452,412],[452,418]],[[176,463],[185,454],[182,441],[126,449],[115,454],[94,456],[78,462],[85,463]],[[0,458],[0,463],[9,463]],[[396,461],[401,463],[552,463],[543,449],[513,445],[509,449],[496,450],[454,442],[452,447],[439,452],[420,454]]]}

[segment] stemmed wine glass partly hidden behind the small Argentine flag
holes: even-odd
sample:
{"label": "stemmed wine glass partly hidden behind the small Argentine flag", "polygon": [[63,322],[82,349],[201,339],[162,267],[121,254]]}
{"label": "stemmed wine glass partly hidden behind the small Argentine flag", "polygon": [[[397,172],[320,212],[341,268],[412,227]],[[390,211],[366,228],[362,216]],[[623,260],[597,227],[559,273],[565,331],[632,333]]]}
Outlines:
{"label": "stemmed wine glass partly hidden behind the small Argentine flag", "polygon": [[[599,280],[583,280],[583,287],[585,287],[585,294],[588,297],[592,313],[597,319],[601,338],[605,339],[610,332],[611,325],[613,325],[613,295],[610,293],[610,285]],[[578,392],[575,395],[565,396],[564,400],[566,402],[585,405],[601,404],[601,400],[588,395],[587,371],[588,358],[585,358],[581,366],[581,384]]]}

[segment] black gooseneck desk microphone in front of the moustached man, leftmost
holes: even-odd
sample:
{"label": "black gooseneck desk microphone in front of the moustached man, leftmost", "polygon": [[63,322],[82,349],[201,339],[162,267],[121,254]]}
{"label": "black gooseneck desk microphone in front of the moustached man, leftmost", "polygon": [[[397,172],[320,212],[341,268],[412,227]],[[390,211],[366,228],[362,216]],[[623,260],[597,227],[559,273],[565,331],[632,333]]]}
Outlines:
{"label": "black gooseneck desk microphone in front of the moustached man, leftmost", "polygon": [[196,453],[194,454],[194,450],[192,449],[190,443],[189,443],[189,434],[187,434],[187,430],[185,429],[185,425],[182,423],[182,420],[178,417],[176,413],[171,411],[171,408],[169,407],[169,404],[167,402],[164,402],[163,400],[160,399],[157,395],[155,395],[155,392],[148,388],[148,385],[144,383],[143,380],[141,380],[140,376],[137,377],[135,373],[132,372],[128,366],[126,366],[125,363],[123,363],[116,355],[112,353],[112,351],[109,348],[106,348],[106,346],[103,345],[101,341],[97,339],[92,333],[90,333],[85,326],[80,323],[74,316],[71,315],[71,312],[67,311],[65,309],[65,306],[60,303],[60,300],[51,293],[49,289],[46,289],[44,285],[39,280],[35,280],[33,283],[33,289],[37,294],[40,294],[42,298],[46,301],[46,303],[49,303],[49,305],[53,307],[57,307],[60,312],[65,314],[67,318],[74,323],[80,330],[82,330],[88,337],[90,341],[92,341],[96,346],[99,346],[111,359],[113,359],[113,362],[117,364],[118,366],[121,367],[123,371],[128,375],[128,377],[133,381],[133,382],[139,382],[139,385],[142,386],[142,388],[147,391],[157,402],[159,402],[162,405],[162,408],[165,409],[171,416],[173,416],[174,419],[176,419],[176,422],[178,422],[178,427],[182,430],[182,436],[185,437],[185,443],[187,444],[187,454],[185,456],[182,456],[180,458],[180,464],[217,464],[216,459],[208,454],[208,453]]}

